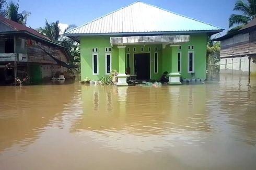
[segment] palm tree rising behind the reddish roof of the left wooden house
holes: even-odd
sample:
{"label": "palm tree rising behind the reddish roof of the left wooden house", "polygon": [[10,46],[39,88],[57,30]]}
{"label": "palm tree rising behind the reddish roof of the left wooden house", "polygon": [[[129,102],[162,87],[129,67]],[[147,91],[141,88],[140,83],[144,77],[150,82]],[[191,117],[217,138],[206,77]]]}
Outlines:
{"label": "palm tree rising behind the reddish roof of the left wooden house", "polygon": [[7,10],[5,11],[6,18],[13,20],[15,22],[18,22],[22,25],[26,25],[27,19],[31,13],[26,10],[22,11],[22,13],[18,13],[19,2],[15,4],[13,1],[10,1],[9,4],[6,3],[6,7],[7,7]]}

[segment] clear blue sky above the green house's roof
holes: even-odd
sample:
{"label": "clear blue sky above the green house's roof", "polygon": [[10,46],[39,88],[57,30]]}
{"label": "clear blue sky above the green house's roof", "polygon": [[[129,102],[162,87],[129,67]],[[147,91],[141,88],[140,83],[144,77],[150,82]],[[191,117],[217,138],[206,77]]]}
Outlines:
{"label": "clear blue sky above the green house's roof", "polygon": [[[22,10],[31,12],[27,21],[27,26],[31,28],[43,27],[45,19],[48,22],[59,20],[64,24],[80,26],[134,2],[136,0],[19,0],[19,12],[21,13]],[[211,23],[226,30],[229,16],[236,13],[232,11],[236,0],[143,0],[141,2]]]}

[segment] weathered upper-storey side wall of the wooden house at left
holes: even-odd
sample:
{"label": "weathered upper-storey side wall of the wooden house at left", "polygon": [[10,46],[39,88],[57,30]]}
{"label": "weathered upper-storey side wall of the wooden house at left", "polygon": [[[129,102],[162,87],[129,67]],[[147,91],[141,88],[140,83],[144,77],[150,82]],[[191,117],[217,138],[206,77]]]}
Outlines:
{"label": "weathered upper-storey side wall of the wooden house at left", "polygon": [[40,47],[44,48],[45,51],[50,53],[55,58],[62,60],[63,62],[67,62],[67,58],[65,57],[64,51],[61,48],[46,45],[36,40],[31,40],[31,44],[28,45],[28,41],[30,40],[26,40],[28,62],[56,64],[54,59],[52,59],[48,54],[42,51]]}

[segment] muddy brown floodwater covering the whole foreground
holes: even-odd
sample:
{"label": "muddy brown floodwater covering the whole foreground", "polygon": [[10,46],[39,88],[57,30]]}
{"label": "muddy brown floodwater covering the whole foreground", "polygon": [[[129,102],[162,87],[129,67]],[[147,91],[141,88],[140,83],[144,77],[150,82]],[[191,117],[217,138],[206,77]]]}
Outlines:
{"label": "muddy brown floodwater covering the whole foreground", "polygon": [[0,169],[256,169],[256,78],[0,92]]}

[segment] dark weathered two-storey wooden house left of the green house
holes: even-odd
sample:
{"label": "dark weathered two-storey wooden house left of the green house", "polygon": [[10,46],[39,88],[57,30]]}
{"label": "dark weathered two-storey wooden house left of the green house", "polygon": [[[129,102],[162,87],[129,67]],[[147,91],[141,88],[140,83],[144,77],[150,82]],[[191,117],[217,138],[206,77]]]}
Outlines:
{"label": "dark weathered two-storey wooden house left of the green house", "polygon": [[40,83],[67,72],[71,55],[67,49],[37,31],[0,15],[0,84],[30,77]]}

